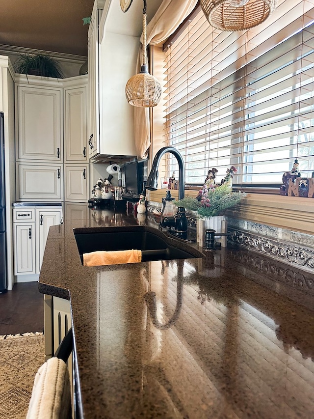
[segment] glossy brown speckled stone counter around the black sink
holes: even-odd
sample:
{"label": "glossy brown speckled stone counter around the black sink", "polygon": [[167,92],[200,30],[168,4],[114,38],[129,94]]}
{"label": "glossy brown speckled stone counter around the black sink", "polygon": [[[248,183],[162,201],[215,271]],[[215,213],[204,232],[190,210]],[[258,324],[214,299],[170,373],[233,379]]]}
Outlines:
{"label": "glossy brown speckled stone counter around the black sink", "polygon": [[49,232],[39,290],[70,299],[84,418],[313,418],[314,277],[235,248],[81,265],[73,228],[137,224]]}

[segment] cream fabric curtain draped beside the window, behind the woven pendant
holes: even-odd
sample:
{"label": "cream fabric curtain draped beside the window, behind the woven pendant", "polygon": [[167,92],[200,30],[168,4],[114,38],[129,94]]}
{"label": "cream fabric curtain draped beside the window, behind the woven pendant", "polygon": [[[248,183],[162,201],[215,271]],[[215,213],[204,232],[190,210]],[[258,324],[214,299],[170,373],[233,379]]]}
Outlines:
{"label": "cream fabric curtain draped beside the window, behind the woven pendant", "polygon": [[[147,25],[147,44],[157,45],[166,40],[193,11],[196,3],[197,0],[164,0]],[[142,48],[137,60],[137,73],[140,71],[141,56]],[[147,158],[151,145],[149,115],[149,108],[134,107],[134,139],[139,161]]]}

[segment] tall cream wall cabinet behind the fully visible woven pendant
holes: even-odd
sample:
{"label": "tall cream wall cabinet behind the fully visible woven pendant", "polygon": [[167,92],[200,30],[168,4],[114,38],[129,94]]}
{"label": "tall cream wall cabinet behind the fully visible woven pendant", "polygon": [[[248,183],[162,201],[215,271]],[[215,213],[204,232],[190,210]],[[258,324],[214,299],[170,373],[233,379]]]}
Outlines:
{"label": "tall cream wall cabinet behind the fully visible woven pendant", "polygon": [[[94,161],[102,155],[136,155],[134,108],[127,102],[125,86],[136,71],[139,37],[105,31],[100,43],[103,4],[95,1],[88,31],[88,146]],[[109,10],[104,13],[110,15]]]}

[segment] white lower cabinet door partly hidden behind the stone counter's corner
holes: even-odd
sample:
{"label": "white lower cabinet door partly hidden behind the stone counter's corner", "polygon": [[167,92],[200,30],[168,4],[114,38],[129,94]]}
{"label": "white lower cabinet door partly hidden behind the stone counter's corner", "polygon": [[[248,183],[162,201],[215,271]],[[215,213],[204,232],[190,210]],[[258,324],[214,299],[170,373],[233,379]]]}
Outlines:
{"label": "white lower cabinet door partly hidden behind the stone counter's corner", "polygon": [[43,262],[49,228],[51,225],[60,224],[62,209],[36,208],[36,273],[39,274]]}

